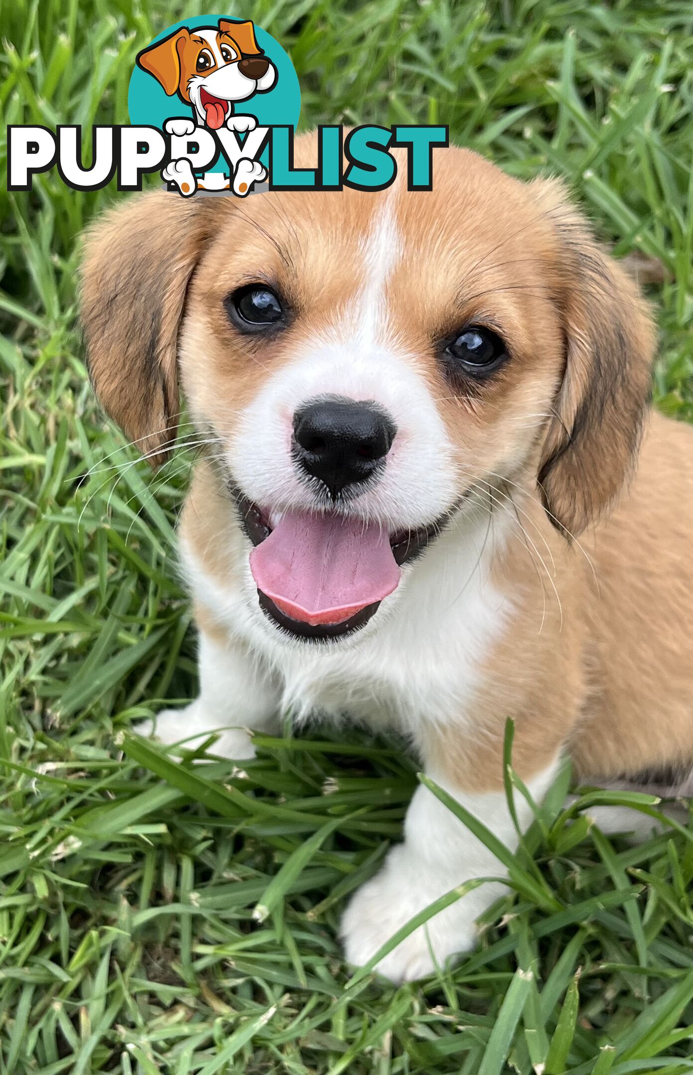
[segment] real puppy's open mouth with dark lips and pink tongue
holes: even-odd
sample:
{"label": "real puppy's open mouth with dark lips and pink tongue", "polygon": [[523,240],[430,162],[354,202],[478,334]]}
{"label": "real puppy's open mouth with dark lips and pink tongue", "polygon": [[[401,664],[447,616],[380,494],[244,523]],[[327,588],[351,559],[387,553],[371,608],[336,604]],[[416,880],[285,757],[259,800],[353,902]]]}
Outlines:
{"label": "real puppy's open mouth with dark lips and pink tongue", "polygon": [[388,533],[336,512],[264,512],[232,490],[254,548],[251,571],[263,612],[301,640],[326,641],[368,622],[399,583],[400,567],[440,531]]}

